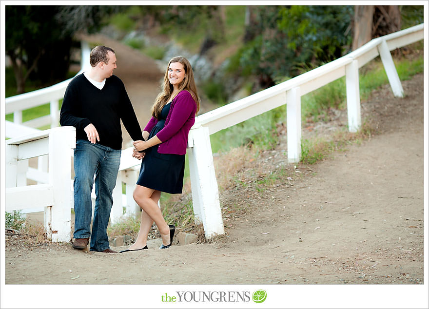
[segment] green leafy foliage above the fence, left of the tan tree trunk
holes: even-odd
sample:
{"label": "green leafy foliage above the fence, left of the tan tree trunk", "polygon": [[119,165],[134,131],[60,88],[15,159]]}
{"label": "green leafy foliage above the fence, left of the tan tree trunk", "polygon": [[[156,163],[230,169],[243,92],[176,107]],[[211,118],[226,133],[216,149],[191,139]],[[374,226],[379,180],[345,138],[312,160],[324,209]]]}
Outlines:
{"label": "green leafy foliage above the fence, left of the tan tree trunk", "polygon": [[[352,6],[258,6],[248,42],[235,58],[261,87],[341,57],[351,43]],[[233,60],[234,65],[234,60]]]}

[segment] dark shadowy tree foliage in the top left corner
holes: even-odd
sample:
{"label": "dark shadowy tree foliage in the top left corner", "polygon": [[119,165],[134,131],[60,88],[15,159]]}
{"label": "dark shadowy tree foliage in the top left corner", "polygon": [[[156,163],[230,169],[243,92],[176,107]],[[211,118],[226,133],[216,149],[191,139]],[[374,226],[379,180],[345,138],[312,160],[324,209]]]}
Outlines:
{"label": "dark shadowy tree foliage in the top left corner", "polygon": [[7,5],[6,55],[14,69],[17,93],[27,79],[52,83],[65,79],[70,65],[73,35],[98,30],[103,17],[120,7]]}

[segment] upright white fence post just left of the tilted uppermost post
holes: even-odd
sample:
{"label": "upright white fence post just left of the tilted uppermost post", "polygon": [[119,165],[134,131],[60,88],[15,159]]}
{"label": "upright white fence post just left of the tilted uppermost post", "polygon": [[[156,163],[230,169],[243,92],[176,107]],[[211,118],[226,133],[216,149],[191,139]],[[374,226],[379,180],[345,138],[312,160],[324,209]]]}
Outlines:
{"label": "upright white fence post just left of the tilted uppermost post", "polygon": [[361,126],[359,66],[357,60],[346,65],[346,96],[349,131],[357,132]]}

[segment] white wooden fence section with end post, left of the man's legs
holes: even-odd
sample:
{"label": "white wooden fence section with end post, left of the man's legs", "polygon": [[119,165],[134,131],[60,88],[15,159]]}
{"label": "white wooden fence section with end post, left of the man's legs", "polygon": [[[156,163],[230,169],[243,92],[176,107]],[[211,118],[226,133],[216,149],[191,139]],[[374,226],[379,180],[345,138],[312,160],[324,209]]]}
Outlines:
{"label": "white wooden fence section with end post, left of the man's legs", "polygon": [[[76,148],[76,129],[59,127],[6,141],[6,211],[44,208],[44,227],[52,241],[70,240],[70,186],[72,150]],[[28,159],[49,155],[46,184],[27,186]],[[24,173],[22,173],[24,172]]]}

